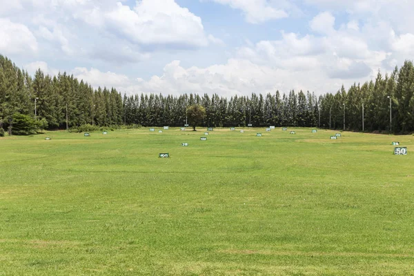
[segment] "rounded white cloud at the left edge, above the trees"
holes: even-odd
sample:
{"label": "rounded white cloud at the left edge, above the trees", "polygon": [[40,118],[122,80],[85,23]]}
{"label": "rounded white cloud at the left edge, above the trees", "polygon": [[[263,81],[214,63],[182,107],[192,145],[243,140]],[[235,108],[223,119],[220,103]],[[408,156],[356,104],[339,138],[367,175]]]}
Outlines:
{"label": "rounded white cloud at the left edge, above the trees", "polygon": [[30,55],[38,50],[37,40],[28,27],[0,18],[0,52],[6,55]]}

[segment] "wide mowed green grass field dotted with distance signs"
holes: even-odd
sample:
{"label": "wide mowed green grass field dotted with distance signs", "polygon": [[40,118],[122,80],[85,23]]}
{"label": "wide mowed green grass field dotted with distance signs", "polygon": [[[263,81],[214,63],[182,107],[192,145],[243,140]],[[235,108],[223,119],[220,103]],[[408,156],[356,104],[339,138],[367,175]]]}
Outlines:
{"label": "wide mowed green grass field dotted with distance signs", "polygon": [[159,129],[0,138],[0,275],[414,275],[414,136]]}

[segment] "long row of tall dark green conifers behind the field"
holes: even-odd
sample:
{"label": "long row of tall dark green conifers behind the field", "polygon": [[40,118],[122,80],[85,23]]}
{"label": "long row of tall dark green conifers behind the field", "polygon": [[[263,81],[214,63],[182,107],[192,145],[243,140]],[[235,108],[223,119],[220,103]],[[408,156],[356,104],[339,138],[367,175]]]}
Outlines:
{"label": "long row of tall dark green conifers behind the field", "polygon": [[414,131],[413,92],[412,61],[405,61],[391,75],[378,72],[375,81],[354,83],[348,91],[342,86],[336,93],[320,96],[291,90],[227,99],[193,93],[122,96],[115,88],[94,89],[66,72],[50,76],[39,69],[32,77],[0,55],[0,128],[5,130],[15,114],[43,120],[49,129],[86,124],[183,126],[186,108],[199,104],[206,110],[202,126],[320,126],[370,132],[391,128],[394,133],[408,133]]}

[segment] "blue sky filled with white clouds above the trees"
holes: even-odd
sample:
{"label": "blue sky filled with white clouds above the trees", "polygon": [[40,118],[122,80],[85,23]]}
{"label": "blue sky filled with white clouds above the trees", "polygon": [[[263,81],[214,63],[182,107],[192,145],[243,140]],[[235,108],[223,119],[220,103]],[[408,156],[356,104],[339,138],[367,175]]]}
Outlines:
{"label": "blue sky filled with white clouds above the trees", "polygon": [[319,95],[414,59],[412,0],[1,2],[1,55],[128,94]]}

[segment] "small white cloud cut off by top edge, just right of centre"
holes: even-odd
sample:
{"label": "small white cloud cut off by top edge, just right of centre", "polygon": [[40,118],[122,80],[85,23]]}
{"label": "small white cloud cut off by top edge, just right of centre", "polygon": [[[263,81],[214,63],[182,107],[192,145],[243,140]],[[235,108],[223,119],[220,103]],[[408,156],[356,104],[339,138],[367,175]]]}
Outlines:
{"label": "small white cloud cut off by top edge, just right of centre", "polygon": [[262,23],[270,19],[288,17],[286,11],[275,8],[268,0],[210,0],[228,5],[231,8],[242,10],[246,21],[250,23]]}

